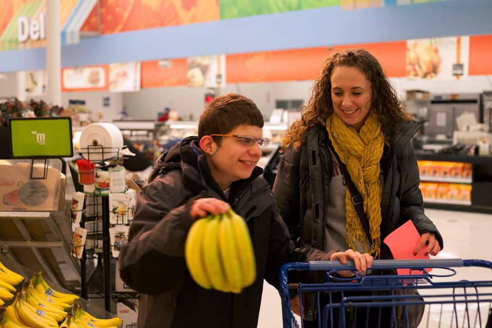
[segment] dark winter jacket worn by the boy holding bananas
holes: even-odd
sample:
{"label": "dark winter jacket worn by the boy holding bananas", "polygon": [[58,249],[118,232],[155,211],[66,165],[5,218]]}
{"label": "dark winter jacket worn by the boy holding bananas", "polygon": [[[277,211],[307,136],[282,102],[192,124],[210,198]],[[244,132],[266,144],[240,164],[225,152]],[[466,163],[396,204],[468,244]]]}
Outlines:
{"label": "dark winter jacket worn by the boy holding bananas", "polygon": [[[138,194],[130,241],[119,254],[121,278],[142,293],[139,328],[256,327],[263,279],[278,289],[281,264],[327,259],[314,249],[295,249],[261,173],[255,168],[249,179],[234,182],[226,199],[196,137],[159,157],[151,182]],[[228,201],[248,224],[257,278],[241,294],[203,289],[188,272],[184,247],[198,197]]]}

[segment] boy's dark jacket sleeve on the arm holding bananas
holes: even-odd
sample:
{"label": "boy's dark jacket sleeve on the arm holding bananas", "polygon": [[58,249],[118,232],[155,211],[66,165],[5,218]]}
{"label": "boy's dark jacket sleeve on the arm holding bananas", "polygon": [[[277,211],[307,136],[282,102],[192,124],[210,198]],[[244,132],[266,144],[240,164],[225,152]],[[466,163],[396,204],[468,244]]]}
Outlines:
{"label": "boy's dark jacket sleeve on the arm holding bananas", "polygon": [[119,254],[121,279],[148,295],[165,292],[182,280],[185,240],[194,221],[190,206],[195,198],[178,199],[179,193],[166,190],[166,178],[171,179],[156,179],[138,194],[129,242]]}

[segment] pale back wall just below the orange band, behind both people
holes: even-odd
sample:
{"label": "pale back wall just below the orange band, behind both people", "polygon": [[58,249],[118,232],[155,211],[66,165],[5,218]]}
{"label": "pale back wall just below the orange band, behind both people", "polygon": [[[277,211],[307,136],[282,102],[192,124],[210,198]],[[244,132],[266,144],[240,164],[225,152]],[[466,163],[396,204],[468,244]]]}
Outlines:
{"label": "pale back wall just below the orange band, behind both people", "polygon": [[[426,90],[431,93],[481,93],[492,90],[492,77],[468,76],[460,80],[418,80],[391,78],[391,83],[402,99],[406,90]],[[278,83],[244,83],[227,85],[220,94],[241,93],[251,98],[265,117],[269,117],[275,107],[276,99],[306,99],[310,95],[312,81],[291,81]],[[139,119],[155,119],[165,107],[175,108],[183,119],[193,115],[197,120],[202,108],[206,88],[166,87],[144,89],[122,95],[122,104],[129,115]]]}

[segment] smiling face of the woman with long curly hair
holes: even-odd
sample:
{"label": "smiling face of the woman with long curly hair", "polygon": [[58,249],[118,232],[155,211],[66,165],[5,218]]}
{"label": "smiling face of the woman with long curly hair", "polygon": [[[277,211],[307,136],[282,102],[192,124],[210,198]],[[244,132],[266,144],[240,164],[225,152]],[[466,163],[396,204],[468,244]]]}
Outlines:
{"label": "smiling face of the woman with long curly hair", "polygon": [[331,76],[335,113],[357,132],[364,125],[371,102],[371,83],[358,68],[338,66]]}

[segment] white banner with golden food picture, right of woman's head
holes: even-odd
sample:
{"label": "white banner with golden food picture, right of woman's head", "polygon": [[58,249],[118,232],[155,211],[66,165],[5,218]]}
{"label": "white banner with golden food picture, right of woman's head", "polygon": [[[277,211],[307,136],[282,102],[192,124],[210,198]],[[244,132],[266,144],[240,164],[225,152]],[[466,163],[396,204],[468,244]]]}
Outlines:
{"label": "white banner with golden food picture, right of woman's head", "polygon": [[469,37],[407,40],[408,79],[452,80],[468,76]]}

